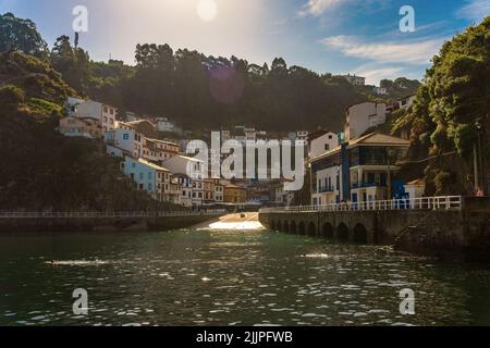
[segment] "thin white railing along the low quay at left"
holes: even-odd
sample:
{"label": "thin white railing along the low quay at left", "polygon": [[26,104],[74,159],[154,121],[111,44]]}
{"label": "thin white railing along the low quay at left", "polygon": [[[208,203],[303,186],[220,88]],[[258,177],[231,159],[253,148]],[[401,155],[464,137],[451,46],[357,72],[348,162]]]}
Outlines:
{"label": "thin white railing along the low quay at left", "polygon": [[216,216],[225,210],[161,211],[161,212],[0,212],[0,219],[123,219],[123,217],[185,217]]}

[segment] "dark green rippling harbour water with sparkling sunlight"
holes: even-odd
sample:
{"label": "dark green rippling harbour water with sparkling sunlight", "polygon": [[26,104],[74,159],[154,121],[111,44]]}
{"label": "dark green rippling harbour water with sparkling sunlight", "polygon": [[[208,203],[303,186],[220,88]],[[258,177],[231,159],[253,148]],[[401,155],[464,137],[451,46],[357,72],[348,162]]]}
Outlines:
{"label": "dark green rippling harbour water with sparkling sunlight", "polygon": [[489,295],[488,265],[272,232],[0,236],[0,325],[489,325]]}

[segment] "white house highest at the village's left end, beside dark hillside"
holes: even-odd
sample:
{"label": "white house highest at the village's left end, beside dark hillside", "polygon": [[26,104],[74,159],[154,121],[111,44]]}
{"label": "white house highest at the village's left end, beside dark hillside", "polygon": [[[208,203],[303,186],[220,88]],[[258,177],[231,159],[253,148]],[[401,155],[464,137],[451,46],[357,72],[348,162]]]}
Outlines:
{"label": "white house highest at the village's left end, beside dark hillside", "polygon": [[115,116],[118,109],[93,100],[69,98],[66,109],[70,116],[90,117],[98,120],[102,128],[102,134],[115,128]]}

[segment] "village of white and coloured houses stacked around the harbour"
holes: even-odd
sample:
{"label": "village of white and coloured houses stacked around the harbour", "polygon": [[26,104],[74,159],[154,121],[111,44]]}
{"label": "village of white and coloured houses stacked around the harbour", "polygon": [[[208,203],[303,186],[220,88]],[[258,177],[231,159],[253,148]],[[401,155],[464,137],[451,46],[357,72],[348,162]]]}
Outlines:
{"label": "village of white and coloured houses stacked around the harbour", "polygon": [[[354,85],[364,85],[363,77],[347,75],[345,78]],[[189,166],[199,171],[205,164],[186,154],[188,142],[194,140],[192,132],[163,116],[120,114],[117,108],[102,102],[69,98],[68,115],[60,120],[59,132],[66,137],[102,139],[106,154],[121,159],[121,171],[131,177],[135,188],[155,200],[189,209],[324,206],[417,198],[425,191],[422,179],[411,183],[394,179],[400,171],[397,162],[409,146],[406,135],[397,138],[379,132],[366,134],[383,125],[391,112],[411,105],[414,99],[415,96],[407,96],[393,105],[370,101],[351,105],[345,110],[345,127],[338,132],[280,134],[246,126],[220,130],[223,142],[268,141],[272,137],[303,141],[307,149],[305,173],[309,177],[302,191],[284,190],[284,179],[189,177]]]}

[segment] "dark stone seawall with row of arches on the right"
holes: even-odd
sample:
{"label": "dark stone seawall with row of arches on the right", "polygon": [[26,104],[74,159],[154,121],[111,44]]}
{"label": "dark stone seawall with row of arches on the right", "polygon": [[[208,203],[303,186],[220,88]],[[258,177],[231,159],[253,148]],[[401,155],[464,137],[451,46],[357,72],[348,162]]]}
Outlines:
{"label": "dark stone seawall with row of arches on the right", "polygon": [[261,212],[259,220],[274,231],[339,243],[490,260],[490,198],[464,198],[457,210],[277,211]]}

